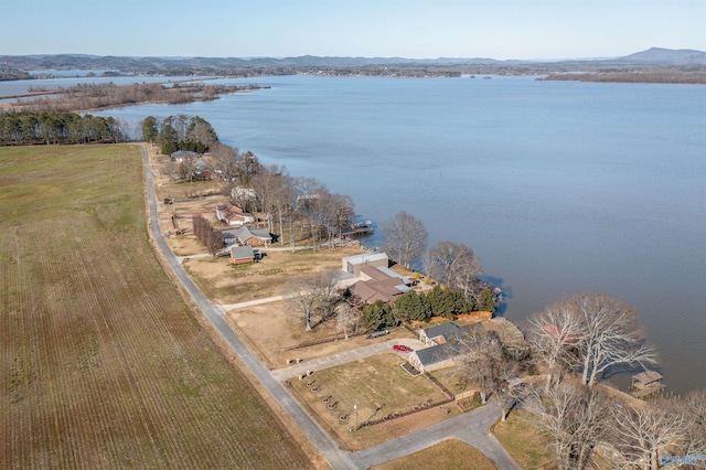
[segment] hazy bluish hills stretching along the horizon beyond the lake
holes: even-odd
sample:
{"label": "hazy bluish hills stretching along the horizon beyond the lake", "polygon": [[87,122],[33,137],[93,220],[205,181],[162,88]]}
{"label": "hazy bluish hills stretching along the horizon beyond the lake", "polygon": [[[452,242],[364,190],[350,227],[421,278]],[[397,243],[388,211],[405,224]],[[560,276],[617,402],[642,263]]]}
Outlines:
{"label": "hazy bluish hills stretching along the horizon beyond the lake", "polygon": [[[541,74],[587,71],[605,66],[691,67],[706,71],[706,52],[652,47],[623,57],[566,61],[498,61],[494,58],[439,57],[128,57],[89,54],[34,54],[0,56],[0,79],[28,78],[28,71],[116,71],[118,74],[203,74],[256,76],[264,74],[312,73],[324,70],[335,74],[383,74],[395,67],[396,75],[425,76],[450,73]],[[696,68],[694,68],[696,67]],[[371,72],[373,71],[373,72]]]}

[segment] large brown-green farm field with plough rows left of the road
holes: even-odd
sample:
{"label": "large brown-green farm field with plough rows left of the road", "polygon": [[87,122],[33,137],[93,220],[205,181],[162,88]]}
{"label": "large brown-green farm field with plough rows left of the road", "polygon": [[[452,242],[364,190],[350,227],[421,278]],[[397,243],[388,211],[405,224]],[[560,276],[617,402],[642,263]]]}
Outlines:
{"label": "large brown-green farm field with plough rows left of the road", "polygon": [[0,149],[4,468],[311,468],[146,232],[138,147]]}

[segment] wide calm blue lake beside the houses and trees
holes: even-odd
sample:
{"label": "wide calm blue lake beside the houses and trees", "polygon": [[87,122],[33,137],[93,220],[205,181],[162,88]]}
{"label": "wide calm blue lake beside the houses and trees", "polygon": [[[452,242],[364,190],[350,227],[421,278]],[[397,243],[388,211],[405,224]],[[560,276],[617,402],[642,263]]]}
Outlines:
{"label": "wide calm blue lake beside the houses and trees", "polygon": [[706,387],[706,87],[224,82],[271,89],[97,114],[199,115],[263,162],[350,194],[366,218],[405,210],[430,244],[475,250],[517,323],[565,295],[607,291],[639,310],[670,389]]}

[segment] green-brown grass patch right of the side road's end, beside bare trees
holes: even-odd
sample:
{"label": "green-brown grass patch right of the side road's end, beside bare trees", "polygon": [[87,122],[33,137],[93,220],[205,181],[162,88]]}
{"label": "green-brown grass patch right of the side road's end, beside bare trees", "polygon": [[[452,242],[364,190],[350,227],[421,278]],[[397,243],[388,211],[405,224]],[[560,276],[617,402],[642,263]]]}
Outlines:
{"label": "green-brown grass patch right of the side road's end, beside bare trees", "polygon": [[524,409],[510,414],[505,423],[491,429],[507,453],[525,470],[554,470],[558,467],[549,440],[537,431],[536,417]]}

